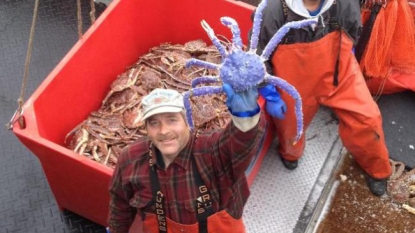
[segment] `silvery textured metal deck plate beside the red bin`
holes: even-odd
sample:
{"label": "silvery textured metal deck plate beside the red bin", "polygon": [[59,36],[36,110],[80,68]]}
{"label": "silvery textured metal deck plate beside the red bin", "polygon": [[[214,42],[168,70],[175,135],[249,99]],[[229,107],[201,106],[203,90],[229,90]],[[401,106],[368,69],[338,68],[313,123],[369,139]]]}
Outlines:
{"label": "silvery textured metal deck plate beside the red bin", "polygon": [[[275,147],[264,158],[244,211],[248,232],[304,232],[304,224],[298,222],[300,219],[308,222],[304,216],[310,216],[325,184],[324,179],[318,178],[328,179],[332,170],[322,168],[329,155],[340,155],[339,149],[332,151],[338,138],[337,123],[328,109],[320,109],[306,138],[304,155],[294,171],[284,168]],[[321,171],[325,174],[320,174]]]}

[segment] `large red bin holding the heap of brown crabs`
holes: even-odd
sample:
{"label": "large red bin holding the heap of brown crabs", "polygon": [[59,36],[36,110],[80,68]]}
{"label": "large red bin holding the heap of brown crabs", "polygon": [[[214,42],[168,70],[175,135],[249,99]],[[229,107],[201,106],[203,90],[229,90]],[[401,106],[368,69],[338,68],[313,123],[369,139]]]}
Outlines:
{"label": "large red bin holding the heap of brown crabs", "polygon": [[[230,0],[114,0],[25,103],[26,128],[13,131],[42,164],[59,208],[106,225],[108,183],[113,170],[64,146],[66,134],[97,110],[111,82],[126,67],[164,42],[203,39],[206,20],[231,38],[220,17],[234,18],[244,43],[254,8]],[[247,171],[251,184],[271,135]]]}

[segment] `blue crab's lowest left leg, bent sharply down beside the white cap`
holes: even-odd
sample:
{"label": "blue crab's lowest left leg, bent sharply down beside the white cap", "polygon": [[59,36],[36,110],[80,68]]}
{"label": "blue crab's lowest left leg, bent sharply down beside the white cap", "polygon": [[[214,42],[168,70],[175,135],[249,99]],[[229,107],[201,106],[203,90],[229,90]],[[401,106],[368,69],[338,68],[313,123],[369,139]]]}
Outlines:
{"label": "blue crab's lowest left leg, bent sharply down beside the white cap", "polygon": [[193,118],[192,118],[192,105],[190,103],[190,98],[192,96],[201,96],[201,95],[213,95],[213,94],[220,94],[223,92],[221,86],[217,87],[196,87],[189,91],[183,93],[183,104],[184,108],[186,109],[186,119],[187,123],[189,123],[190,129],[194,129]]}

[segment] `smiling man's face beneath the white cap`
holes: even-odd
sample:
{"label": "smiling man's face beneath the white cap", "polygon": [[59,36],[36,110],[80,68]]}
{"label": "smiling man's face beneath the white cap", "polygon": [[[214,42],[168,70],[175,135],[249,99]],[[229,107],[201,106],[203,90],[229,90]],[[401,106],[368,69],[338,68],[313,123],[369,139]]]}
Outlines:
{"label": "smiling man's face beneath the white cap", "polygon": [[186,146],[190,130],[182,113],[160,113],[146,121],[147,136],[163,157],[173,160]]}

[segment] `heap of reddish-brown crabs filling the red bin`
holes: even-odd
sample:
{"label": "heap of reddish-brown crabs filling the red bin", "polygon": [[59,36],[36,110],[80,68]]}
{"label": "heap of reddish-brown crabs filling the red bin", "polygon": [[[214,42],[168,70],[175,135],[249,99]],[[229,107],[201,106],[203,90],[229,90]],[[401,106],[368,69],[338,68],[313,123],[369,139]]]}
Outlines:
{"label": "heap of reddish-brown crabs filling the red bin", "polygon": [[[221,43],[226,48],[230,46],[226,39]],[[140,120],[143,96],[155,88],[184,92],[191,89],[192,79],[218,75],[213,69],[186,68],[190,58],[215,64],[221,62],[216,47],[207,46],[202,40],[184,45],[165,43],[150,49],[113,81],[101,107],[67,134],[67,147],[96,162],[115,167],[121,151],[146,135]],[[223,94],[192,97],[195,130],[224,128],[230,122],[225,99]]]}

